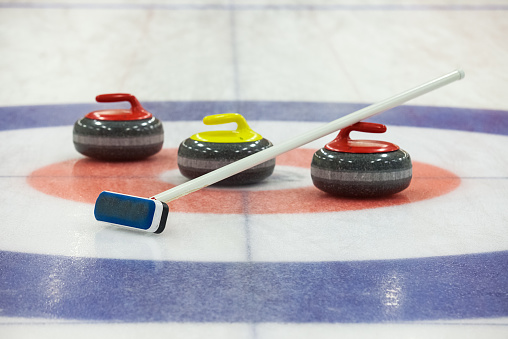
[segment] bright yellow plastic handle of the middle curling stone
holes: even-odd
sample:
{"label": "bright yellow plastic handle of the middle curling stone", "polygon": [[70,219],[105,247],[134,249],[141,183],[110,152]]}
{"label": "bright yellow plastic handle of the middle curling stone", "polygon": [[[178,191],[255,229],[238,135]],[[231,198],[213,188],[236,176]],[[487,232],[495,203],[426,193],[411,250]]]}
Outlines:
{"label": "bright yellow plastic handle of the middle curling stone", "polygon": [[205,125],[222,125],[231,122],[237,124],[237,128],[234,131],[201,132],[191,136],[191,139],[215,143],[251,142],[263,139],[260,134],[254,132],[249,127],[245,118],[238,113],[214,114],[203,118],[203,123]]}

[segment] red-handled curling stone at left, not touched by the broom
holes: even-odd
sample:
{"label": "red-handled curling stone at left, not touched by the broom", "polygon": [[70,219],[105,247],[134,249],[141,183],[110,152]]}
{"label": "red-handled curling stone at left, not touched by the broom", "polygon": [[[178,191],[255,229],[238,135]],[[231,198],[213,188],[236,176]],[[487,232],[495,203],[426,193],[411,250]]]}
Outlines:
{"label": "red-handled curling stone at left, not touched by the broom", "polygon": [[159,152],[164,142],[162,123],[130,94],[102,94],[98,102],[128,101],[130,109],[88,113],[74,124],[76,150],[100,160],[139,160]]}

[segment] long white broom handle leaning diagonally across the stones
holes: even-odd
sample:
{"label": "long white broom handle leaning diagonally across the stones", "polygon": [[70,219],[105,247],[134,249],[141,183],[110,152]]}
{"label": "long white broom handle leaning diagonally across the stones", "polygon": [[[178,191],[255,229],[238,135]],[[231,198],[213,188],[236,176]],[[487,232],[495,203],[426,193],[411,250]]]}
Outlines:
{"label": "long white broom handle leaning diagonally across the stones", "polygon": [[406,101],[414,99],[420,95],[438,89],[442,86],[445,86],[451,82],[460,80],[462,78],[464,78],[464,71],[455,70],[451,73],[448,73],[439,78],[424,83],[423,85],[420,85],[418,87],[415,87],[398,95],[380,101],[376,104],[372,104],[368,107],[362,108],[354,113],[334,120],[326,125],[317,127],[309,132],[306,132],[290,140],[287,140],[279,145],[275,145],[270,148],[264,149],[263,151],[254,153],[252,155],[249,155],[248,157],[237,160],[229,165],[226,165],[212,172],[204,174],[200,177],[197,177],[193,180],[190,180],[186,183],[178,185],[170,190],[159,193],[155,195],[153,198],[163,202],[169,202],[171,200],[177,199],[189,193],[200,190],[204,187],[215,184],[218,181],[229,178],[232,175],[235,175],[246,169],[259,165],[267,160],[275,158],[276,156],[281,155],[282,153],[288,152],[292,149],[305,145],[311,141],[324,137],[330,133],[336,132],[344,127],[355,124],[375,114],[399,106]]}

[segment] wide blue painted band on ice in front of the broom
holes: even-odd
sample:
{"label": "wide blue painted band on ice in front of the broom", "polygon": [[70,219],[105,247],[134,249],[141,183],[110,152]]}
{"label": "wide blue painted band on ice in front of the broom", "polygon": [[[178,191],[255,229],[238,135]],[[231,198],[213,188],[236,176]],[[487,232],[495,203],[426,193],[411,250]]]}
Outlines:
{"label": "wide blue painted band on ice in front of the broom", "polygon": [[508,251],[311,263],[0,251],[2,316],[115,322],[359,323],[508,315]]}

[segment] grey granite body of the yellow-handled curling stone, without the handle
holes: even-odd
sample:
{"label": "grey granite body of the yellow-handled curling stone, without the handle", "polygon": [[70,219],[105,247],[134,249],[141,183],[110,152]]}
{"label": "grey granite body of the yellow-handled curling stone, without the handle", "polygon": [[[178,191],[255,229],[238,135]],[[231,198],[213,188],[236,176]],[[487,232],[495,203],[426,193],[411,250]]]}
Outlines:
{"label": "grey granite body of the yellow-handled curling stone, without the handle", "polygon": [[[239,143],[204,142],[185,139],[178,148],[178,168],[189,179],[228,165],[251,154],[271,147],[267,139]],[[218,185],[245,185],[269,177],[275,168],[275,159],[268,160],[241,173],[226,178]]]}

